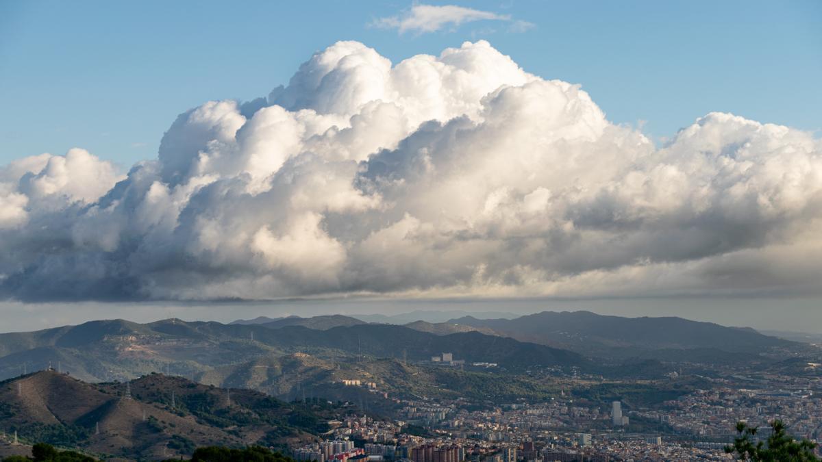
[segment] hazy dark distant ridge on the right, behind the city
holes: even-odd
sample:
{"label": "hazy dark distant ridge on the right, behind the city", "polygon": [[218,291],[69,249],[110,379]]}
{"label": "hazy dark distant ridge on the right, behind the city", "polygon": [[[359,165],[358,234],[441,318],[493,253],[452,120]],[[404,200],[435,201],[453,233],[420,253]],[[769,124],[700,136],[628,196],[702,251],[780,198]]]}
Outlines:
{"label": "hazy dark distant ridge on the right, behind the city", "polygon": [[[650,351],[677,349],[715,349],[754,355],[779,349],[804,350],[803,345],[762,335],[752,329],[680,317],[632,318],[593,312],[540,312],[510,320],[464,316],[449,322],[606,358],[648,357]],[[669,357],[670,352],[665,351],[664,356]]]}

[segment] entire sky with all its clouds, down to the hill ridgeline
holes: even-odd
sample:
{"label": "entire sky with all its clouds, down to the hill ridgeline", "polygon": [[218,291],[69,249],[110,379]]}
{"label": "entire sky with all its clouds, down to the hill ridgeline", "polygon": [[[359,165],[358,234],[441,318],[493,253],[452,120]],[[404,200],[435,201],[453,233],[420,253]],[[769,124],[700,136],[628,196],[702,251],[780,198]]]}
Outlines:
{"label": "entire sky with all its clouds, down to the hill ridgeline", "polygon": [[466,301],[802,330],[820,19],[2,2],[0,330]]}

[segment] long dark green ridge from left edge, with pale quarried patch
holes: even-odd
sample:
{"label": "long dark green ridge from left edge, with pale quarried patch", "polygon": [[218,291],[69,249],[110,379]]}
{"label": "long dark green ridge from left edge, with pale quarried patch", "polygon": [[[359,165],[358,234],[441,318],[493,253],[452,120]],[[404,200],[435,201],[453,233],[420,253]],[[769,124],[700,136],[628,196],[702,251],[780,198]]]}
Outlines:
{"label": "long dark green ridge from left edge, with pale quarried patch", "polygon": [[[342,319],[341,319],[342,318]],[[310,318],[313,319],[313,318]],[[348,323],[345,316],[315,320],[315,327]],[[298,318],[297,321],[302,320]],[[304,320],[303,320],[304,321]],[[356,320],[355,320],[356,321]],[[322,324],[325,323],[325,324]],[[320,358],[430,359],[443,352],[470,362],[499,363],[511,370],[543,366],[582,366],[579,354],[513,339],[464,332],[434,335],[403,326],[225,325],[178,319],[136,324],[95,321],[30,333],[0,335],[0,380],[49,365],[85,381],[125,380],[150,372],[193,377],[238,358],[312,353]]]}

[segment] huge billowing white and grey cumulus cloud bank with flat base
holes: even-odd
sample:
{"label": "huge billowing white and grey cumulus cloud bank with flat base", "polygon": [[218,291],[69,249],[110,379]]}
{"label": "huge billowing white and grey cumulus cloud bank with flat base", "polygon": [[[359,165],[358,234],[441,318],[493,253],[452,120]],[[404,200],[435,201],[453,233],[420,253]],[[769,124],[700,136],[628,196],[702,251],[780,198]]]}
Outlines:
{"label": "huge billowing white and grey cumulus cloud bank with flat base", "polygon": [[709,113],[657,148],[487,42],[339,42],[125,176],[79,149],[0,169],[0,296],[818,294],[820,219],[808,132]]}

